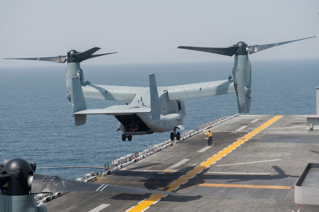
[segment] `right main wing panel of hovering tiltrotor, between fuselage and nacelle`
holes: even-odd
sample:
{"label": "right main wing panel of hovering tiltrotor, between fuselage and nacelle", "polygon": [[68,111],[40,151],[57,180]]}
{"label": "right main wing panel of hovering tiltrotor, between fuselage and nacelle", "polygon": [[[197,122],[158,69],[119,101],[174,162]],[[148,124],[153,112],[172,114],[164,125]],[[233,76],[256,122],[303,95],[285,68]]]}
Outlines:
{"label": "right main wing panel of hovering tiltrotor, between fuselage and nacelle", "polygon": [[235,92],[233,79],[169,86],[165,89],[167,89],[169,100],[216,96]]}

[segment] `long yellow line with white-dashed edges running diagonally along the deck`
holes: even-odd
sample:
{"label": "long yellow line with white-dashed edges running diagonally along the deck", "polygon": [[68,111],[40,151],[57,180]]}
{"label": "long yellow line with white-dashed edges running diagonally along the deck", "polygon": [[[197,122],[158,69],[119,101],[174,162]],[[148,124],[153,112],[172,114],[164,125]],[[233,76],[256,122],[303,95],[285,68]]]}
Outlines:
{"label": "long yellow line with white-dashed edges running diagonally along the deck", "polygon": [[[257,133],[259,133],[260,131],[262,131],[263,129],[265,129],[266,127],[268,127],[269,125],[271,125],[273,122],[277,121],[281,117],[282,116],[279,116],[279,115],[275,116],[274,118],[272,118],[271,120],[267,121],[266,123],[264,123],[260,127],[256,128],[255,130],[251,131],[250,133],[246,134],[245,136],[239,138],[236,142],[234,142],[233,144],[229,145],[224,150],[220,151],[219,153],[217,153],[213,157],[209,158],[208,160],[206,160],[204,163],[202,163],[201,165],[197,166],[196,168],[192,169],[190,172],[186,173],[181,178],[179,178],[179,179],[175,180],[174,182],[170,183],[167,186],[169,188],[166,191],[171,192],[171,191],[175,190],[178,186],[181,186],[184,182],[186,182],[190,178],[194,177],[196,174],[198,174],[199,172],[203,171],[205,168],[207,168],[211,164],[215,163],[217,160],[219,160],[220,158],[224,157],[229,152],[233,151],[236,147],[238,147],[241,144],[243,144],[246,141],[248,141],[251,137],[253,137]],[[135,207],[131,208],[130,210],[127,210],[127,212],[140,212],[140,211],[143,211],[147,207],[150,207],[152,204],[154,204],[156,201],[159,201],[159,199],[162,198],[162,197],[164,197],[163,194],[153,194],[152,196],[150,196],[146,200],[141,201],[140,203],[138,203]]]}

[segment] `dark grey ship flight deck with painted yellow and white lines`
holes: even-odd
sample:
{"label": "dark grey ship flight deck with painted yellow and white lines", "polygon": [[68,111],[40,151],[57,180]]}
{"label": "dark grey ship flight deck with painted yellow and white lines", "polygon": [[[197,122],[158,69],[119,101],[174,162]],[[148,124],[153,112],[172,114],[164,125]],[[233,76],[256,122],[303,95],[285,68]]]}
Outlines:
{"label": "dark grey ship flight deck with painted yellow and white lines", "polygon": [[49,212],[319,211],[294,202],[303,170],[319,163],[319,131],[306,127],[301,115],[238,115],[211,128],[213,146],[200,130],[94,181],[200,196],[70,192],[45,204]]}

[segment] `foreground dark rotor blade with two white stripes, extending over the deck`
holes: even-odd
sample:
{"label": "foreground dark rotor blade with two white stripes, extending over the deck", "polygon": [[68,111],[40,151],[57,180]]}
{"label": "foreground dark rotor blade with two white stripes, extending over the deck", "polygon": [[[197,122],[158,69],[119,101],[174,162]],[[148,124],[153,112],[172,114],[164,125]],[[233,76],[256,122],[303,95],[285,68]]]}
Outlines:
{"label": "foreground dark rotor blade with two white stripes, extending over the deck", "polygon": [[75,180],[61,179],[58,176],[46,176],[34,174],[31,193],[55,193],[71,191],[111,191],[125,193],[147,193],[147,194],[170,194],[180,196],[197,196],[192,194],[180,194],[174,192],[157,191],[143,188],[132,188],[126,186],[115,186],[100,183],[88,183]]}

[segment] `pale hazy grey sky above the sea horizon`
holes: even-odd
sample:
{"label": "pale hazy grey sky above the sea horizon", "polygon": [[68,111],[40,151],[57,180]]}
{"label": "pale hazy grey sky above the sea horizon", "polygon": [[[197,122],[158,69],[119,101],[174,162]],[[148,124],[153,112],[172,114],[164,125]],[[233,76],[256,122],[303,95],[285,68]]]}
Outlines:
{"label": "pale hazy grey sky above the sea horizon", "polygon": [[[86,64],[233,61],[178,46],[229,47],[302,40],[250,60],[318,58],[318,0],[2,1],[0,66],[49,65],[10,57],[66,55],[71,49],[119,52]],[[37,64],[35,64],[37,63]]]}

